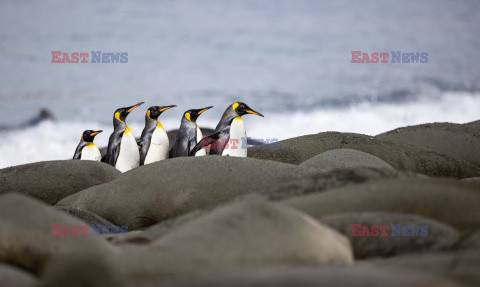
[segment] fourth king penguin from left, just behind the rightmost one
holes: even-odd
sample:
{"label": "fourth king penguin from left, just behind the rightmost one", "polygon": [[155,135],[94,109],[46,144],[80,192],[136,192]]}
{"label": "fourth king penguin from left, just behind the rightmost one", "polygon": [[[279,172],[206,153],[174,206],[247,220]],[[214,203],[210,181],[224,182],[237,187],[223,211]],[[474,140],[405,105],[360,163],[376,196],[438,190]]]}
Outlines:
{"label": "fourth king penguin from left, just behind the rightmost one", "polygon": [[[175,143],[170,150],[170,157],[189,156],[190,151],[202,140],[202,131],[198,127],[196,121],[198,117],[206,110],[213,108],[209,106],[203,109],[188,110],[183,114],[180,123],[180,129],[177,133]],[[204,149],[199,149],[192,156],[207,155]]]}

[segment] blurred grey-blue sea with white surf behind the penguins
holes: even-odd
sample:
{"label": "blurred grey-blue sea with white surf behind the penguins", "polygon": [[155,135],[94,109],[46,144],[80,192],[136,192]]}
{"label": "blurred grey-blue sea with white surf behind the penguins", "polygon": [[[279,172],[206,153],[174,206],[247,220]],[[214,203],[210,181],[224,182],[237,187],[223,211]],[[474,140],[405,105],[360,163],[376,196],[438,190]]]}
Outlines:
{"label": "blurred grey-blue sea with white surf behind the penguins", "polygon": [[[0,167],[73,156],[85,129],[145,101],[127,122],[141,133],[150,105],[176,129],[213,105],[214,127],[244,101],[254,138],[321,131],[375,135],[426,122],[480,118],[478,1],[0,2],[0,126],[41,108],[55,122],[0,132]],[[124,64],[52,64],[51,51],[127,52]],[[352,64],[351,51],[427,52],[424,64]]]}

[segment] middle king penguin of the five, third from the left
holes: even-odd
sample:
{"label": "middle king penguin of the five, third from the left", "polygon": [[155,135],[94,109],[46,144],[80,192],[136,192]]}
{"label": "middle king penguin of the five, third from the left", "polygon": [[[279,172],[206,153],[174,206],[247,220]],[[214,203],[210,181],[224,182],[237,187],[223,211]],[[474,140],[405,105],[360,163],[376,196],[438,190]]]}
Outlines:
{"label": "middle king penguin of the five, third from the left", "polygon": [[142,136],[137,142],[140,148],[140,165],[149,164],[168,157],[169,141],[167,132],[162,124],[157,120],[158,116],[164,111],[176,107],[171,106],[152,106],[145,114],[145,128]]}

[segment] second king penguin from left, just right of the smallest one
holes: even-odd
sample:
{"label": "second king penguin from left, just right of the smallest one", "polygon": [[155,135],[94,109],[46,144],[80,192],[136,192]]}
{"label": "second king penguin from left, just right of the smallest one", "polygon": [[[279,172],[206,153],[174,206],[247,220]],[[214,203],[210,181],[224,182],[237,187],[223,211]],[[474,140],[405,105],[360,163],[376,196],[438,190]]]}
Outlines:
{"label": "second king penguin from left, just right of the smallest one", "polygon": [[140,153],[132,131],[125,123],[128,114],[143,102],[131,107],[120,108],[113,114],[113,133],[108,140],[105,162],[121,172],[129,171],[140,164]]}

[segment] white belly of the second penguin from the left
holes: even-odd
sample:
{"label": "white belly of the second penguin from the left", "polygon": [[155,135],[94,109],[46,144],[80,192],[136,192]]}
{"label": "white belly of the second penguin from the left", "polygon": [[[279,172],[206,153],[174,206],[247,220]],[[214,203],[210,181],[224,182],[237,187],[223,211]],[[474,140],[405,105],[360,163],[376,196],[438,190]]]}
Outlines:
{"label": "white belly of the second penguin from the left", "polygon": [[120,153],[118,154],[115,168],[121,172],[129,171],[138,167],[140,164],[140,152],[138,151],[137,141],[130,129],[123,133],[122,141],[120,143]]}

